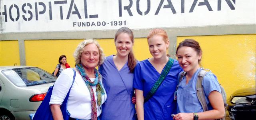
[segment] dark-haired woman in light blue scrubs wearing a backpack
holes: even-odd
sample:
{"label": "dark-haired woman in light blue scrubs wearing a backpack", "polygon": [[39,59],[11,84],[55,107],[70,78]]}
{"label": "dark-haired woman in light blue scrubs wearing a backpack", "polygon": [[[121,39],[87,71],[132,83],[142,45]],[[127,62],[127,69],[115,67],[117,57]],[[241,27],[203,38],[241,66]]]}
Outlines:
{"label": "dark-haired woman in light blue scrubs wearing a backpack", "polygon": [[[196,81],[202,58],[199,43],[192,39],[182,41],[176,50],[176,56],[186,72],[177,90],[177,112],[175,120],[205,120],[222,118],[225,114],[220,85],[212,72],[207,72],[202,81],[208,111],[203,108],[196,96]],[[179,77],[180,78],[180,74]],[[179,80],[179,79],[178,79]]]}

